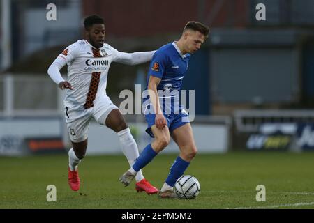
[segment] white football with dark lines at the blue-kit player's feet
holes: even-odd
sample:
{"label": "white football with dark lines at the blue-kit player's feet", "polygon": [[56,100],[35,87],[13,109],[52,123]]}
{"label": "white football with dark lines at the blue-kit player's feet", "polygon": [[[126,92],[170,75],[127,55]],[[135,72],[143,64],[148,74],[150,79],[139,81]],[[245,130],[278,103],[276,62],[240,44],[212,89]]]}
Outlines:
{"label": "white football with dark lines at the blue-kit player's feet", "polygon": [[194,176],[181,176],[174,184],[174,192],[181,199],[195,199],[200,194],[200,183]]}

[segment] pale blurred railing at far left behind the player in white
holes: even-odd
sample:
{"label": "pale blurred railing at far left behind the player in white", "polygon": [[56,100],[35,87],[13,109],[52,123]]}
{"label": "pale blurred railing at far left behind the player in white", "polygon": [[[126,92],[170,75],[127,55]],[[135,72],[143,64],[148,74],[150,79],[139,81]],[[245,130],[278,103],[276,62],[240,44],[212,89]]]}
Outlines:
{"label": "pale blurred railing at far left behind the player in white", "polygon": [[59,116],[63,92],[48,75],[0,76],[0,117]]}

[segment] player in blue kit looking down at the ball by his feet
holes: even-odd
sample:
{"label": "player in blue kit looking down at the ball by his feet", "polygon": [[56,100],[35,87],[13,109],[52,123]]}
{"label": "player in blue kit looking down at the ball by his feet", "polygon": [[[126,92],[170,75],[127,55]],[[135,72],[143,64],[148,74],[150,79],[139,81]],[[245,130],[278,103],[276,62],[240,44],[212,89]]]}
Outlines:
{"label": "player in blue kit looking down at the ball by his feet", "polygon": [[209,36],[209,27],[200,22],[188,22],[181,38],[158,49],[149,66],[147,97],[143,100],[148,127],[146,132],[154,137],[133,166],[119,180],[125,186],[137,171],[145,167],[170,143],[170,135],[180,149],[179,156],[170,167],[170,173],[159,191],[160,198],[177,197],[174,183],[184,174],[197,153],[188,113],[180,105],[181,84],[188,70],[191,54],[200,49]]}

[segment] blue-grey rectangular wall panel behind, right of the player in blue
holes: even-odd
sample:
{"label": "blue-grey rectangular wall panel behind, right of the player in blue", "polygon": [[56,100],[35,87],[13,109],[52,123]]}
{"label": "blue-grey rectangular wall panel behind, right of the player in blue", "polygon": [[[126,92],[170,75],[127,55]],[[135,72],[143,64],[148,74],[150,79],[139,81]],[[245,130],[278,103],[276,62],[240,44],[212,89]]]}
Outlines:
{"label": "blue-grey rectangular wall panel behind, right of the player in blue", "polygon": [[218,102],[290,102],[299,94],[297,50],[218,48],[211,52],[211,91]]}

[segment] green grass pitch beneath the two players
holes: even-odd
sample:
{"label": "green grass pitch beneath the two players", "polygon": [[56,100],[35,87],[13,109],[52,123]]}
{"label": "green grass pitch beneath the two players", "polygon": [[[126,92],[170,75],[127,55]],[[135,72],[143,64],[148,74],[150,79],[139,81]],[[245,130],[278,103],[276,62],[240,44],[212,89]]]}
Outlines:
{"label": "green grass pitch beneath the two players", "polygon": [[[160,188],[176,155],[158,155],[144,176]],[[124,187],[124,156],[87,156],[80,164],[81,188],[68,187],[67,155],[0,157],[0,208],[314,208],[314,153],[247,152],[198,154],[185,174],[201,185],[194,200],[159,199]],[[48,202],[47,185],[57,187]],[[266,201],[257,202],[257,185]]]}

